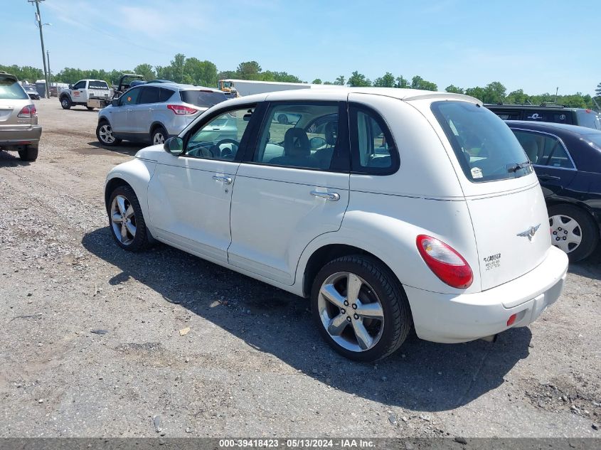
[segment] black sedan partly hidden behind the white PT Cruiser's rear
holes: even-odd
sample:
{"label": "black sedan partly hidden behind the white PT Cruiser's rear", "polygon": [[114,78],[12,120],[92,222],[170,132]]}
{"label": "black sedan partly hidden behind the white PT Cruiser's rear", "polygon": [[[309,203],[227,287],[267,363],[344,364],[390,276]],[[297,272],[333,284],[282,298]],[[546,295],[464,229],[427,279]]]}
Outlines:
{"label": "black sedan partly hidden behind the white PT Cruiser's rear", "polygon": [[588,257],[601,229],[601,131],[510,120],[532,161],[549,213],[551,243],[570,261]]}

